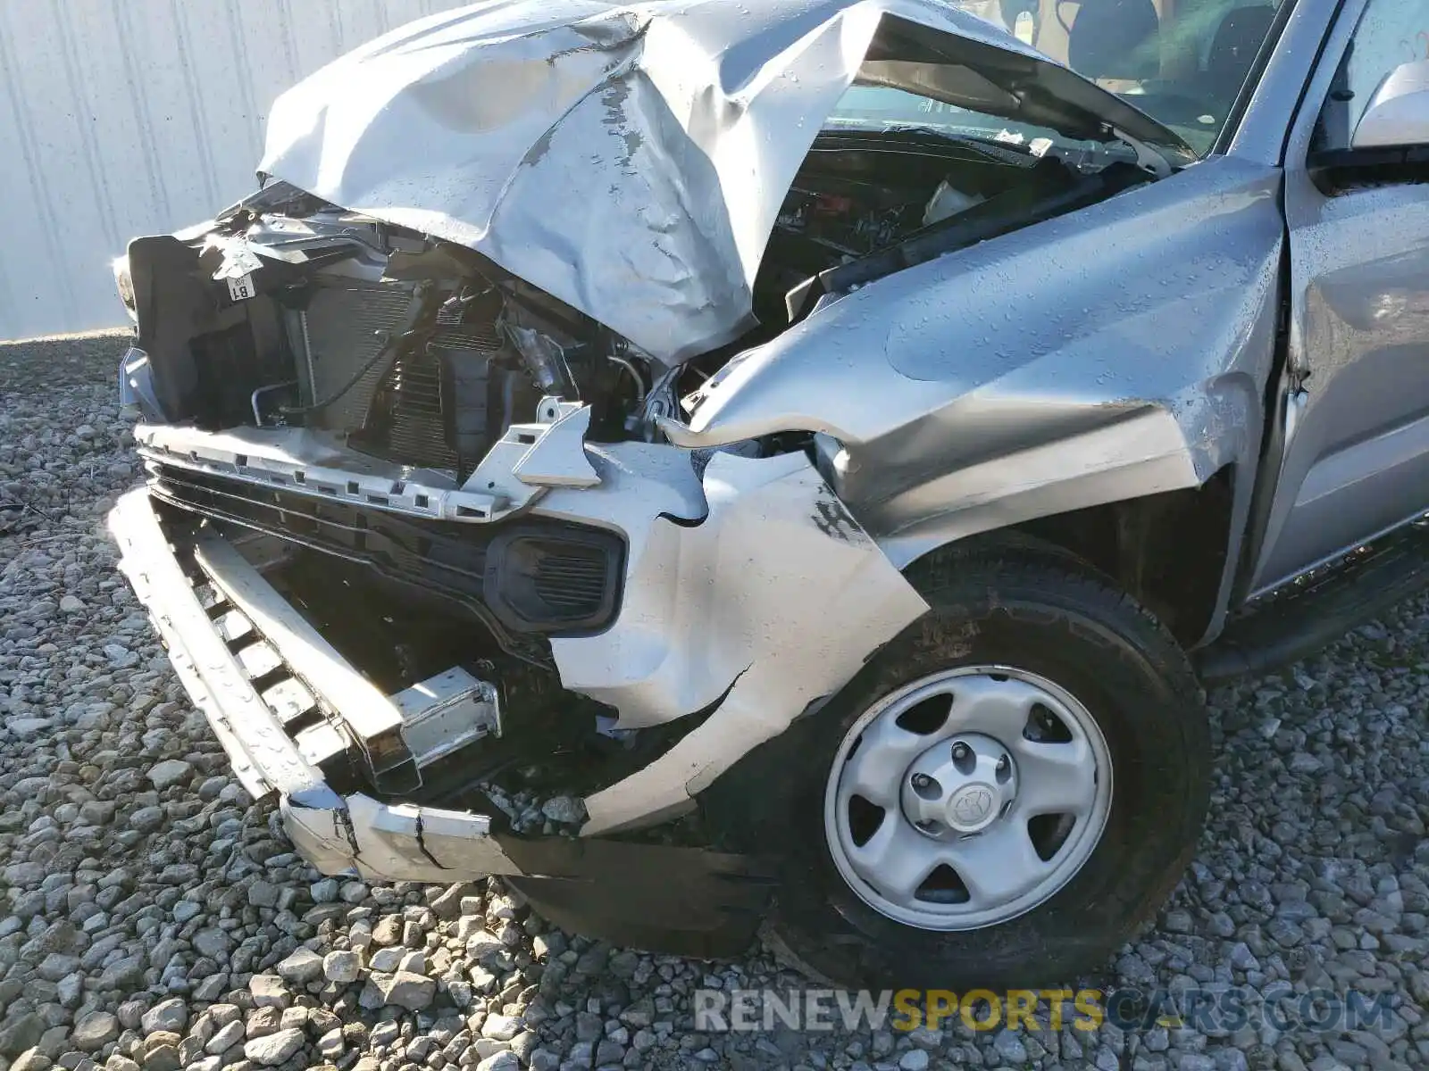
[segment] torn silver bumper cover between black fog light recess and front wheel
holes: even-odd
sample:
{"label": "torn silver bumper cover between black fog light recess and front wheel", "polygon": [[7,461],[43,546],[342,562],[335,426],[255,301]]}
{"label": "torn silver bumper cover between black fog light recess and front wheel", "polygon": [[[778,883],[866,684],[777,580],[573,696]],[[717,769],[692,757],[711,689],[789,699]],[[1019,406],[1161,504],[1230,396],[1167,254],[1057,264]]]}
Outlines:
{"label": "torn silver bumper cover between black fog light recess and front wheel", "polygon": [[[690,461],[670,447],[612,453],[630,467]],[[632,494],[636,481],[659,486],[647,471],[537,508],[600,518],[630,541],[616,623],[552,641],[562,684],[613,705],[622,728],[719,707],[656,763],[589,797],[586,835],[687,803],[927,610],[803,454],[716,453],[697,484],[693,470],[683,480],[692,498],[703,496],[697,520]]]}

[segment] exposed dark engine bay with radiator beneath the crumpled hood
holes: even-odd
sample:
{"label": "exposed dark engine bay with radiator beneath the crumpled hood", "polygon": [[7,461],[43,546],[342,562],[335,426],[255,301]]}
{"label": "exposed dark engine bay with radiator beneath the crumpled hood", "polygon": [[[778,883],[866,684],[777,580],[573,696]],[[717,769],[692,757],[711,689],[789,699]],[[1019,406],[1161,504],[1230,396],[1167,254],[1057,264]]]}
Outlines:
{"label": "exposed dark engine bay with radiator beneath the crumpled hood", "polygon": [[757,326],[676,367],[479,253],[283,183],[200,234],[136,240],[120,288],[150,364],[146,418],[307,428],[460,484],[543,398],[589,404],[593,441],[656,441],[657,417],[686,417],[733,354],[819,294],[1147,180],[1050,144],[826,130],[769,238]]}

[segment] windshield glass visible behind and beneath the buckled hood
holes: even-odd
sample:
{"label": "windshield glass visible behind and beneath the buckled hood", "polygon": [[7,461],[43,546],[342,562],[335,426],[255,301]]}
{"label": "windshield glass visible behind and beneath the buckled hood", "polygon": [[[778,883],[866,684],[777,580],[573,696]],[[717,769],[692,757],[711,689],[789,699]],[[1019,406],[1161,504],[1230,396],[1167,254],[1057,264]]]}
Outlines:
{"label": "windshield glass visible behind and beneath the buckled hood", "polygon": [[[1279,4],[1290,1],[952,0],[952,6],[1065,63],[1205,156],[1270,34]],[[830,117],[830,126],[846,124],[909,124],[1023,144],[1069,144],[1050,130],[882,87],[849,91]]]}

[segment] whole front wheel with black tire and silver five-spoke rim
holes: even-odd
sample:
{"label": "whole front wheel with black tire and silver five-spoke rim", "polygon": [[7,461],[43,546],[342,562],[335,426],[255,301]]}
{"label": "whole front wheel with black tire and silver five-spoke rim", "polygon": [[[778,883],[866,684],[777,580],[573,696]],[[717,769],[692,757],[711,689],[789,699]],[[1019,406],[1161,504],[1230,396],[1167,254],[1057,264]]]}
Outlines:
{"label": "whole front wheel with black tire and silver five-spoke rim", "polygon": [[772,924],[812,974],[1067,981],[1185,871],[1209,790],[1200,687],[1145,610],[1060,551],[957,550],[916,580],[932,613],[709,810],[785,860]]}

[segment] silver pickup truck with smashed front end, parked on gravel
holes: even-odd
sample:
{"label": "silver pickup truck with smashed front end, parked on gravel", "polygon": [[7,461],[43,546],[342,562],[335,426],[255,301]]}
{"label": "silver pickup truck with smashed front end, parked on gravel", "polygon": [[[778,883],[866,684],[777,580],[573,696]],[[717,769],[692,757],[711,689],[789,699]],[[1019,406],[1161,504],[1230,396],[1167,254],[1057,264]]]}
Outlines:
{"label": "silver pickup truck with smashed front end, parked on gravel", "polygon": [[1202,685],[1426,575],[1426,27],[400,29],[277,100],[257,193],[116,264],[123,570],[324,873],[503,875],[696,955],[767,921],[849,984],[1065,980],[1186,865]]}

